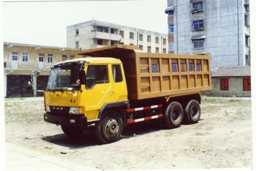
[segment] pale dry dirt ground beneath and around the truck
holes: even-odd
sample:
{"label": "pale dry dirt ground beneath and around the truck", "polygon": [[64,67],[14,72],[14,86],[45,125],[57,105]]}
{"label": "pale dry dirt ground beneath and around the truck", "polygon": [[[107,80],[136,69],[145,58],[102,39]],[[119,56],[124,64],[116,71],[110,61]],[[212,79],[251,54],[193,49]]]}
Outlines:
{"label": "pale dry dirt ground beneath and around the truck", "polygon": [[6,142],[105,169],[252,168],[250,98],[202,100],[196,124],[165,130],[153,121],[129,126],[121,140],[99,145],[93,130],[69,139],[45,123],[43,98],[5,100]]}

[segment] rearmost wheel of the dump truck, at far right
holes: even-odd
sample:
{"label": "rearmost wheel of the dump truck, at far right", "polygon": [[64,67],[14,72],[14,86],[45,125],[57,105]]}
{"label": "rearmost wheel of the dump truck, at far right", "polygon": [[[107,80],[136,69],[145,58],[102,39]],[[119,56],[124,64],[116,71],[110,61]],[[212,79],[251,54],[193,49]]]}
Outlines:
{"label": "rearmost wheel of the dump truck, at far right", "polygon": [[195,124],[201,116],[200,104],[196,100],[189,101],[185,108],[184,120],[187,124]]}

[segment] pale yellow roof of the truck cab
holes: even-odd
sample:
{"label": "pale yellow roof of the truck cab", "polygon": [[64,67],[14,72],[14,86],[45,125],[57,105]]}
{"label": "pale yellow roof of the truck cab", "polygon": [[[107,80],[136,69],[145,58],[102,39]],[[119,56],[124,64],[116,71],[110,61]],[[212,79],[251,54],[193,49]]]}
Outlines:
{"label": "pale yellow roof of the truck cab", "polygon": [[76,59],[70,59],[67,61],[62,61],[60,63],[56,63],[54,65],[63,64],[63,63],[72,63],[72,62],[79,62],[84,61],[86,63],[92,64],[120,64],[120,59],[116,59],[113,57],[81,57]]}

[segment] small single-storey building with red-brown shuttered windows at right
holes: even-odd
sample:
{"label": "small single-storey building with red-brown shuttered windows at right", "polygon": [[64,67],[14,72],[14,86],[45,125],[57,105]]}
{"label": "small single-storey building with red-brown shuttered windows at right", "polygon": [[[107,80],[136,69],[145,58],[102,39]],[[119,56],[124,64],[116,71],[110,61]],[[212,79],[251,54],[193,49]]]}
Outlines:
{"label": "small single-storey building with red-brown shuttered windows at right", "polygon": [[212,91],[205,92],[214,96],[251,96],[250,66],[220,67],[212,73]]}

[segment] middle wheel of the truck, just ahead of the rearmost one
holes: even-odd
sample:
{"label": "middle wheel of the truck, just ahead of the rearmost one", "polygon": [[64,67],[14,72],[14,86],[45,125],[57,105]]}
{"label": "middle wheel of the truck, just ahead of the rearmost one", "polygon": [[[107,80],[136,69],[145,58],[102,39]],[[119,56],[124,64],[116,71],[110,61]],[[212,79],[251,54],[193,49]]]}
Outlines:
{"label": "middle wheel of the truck, just ahead of the rearmost one", "polygon": [[167,128],[177,128],[182,123],[184,117],[183,108],[179,102],[170,103],[164,113],[164,124]]}

